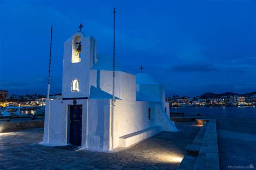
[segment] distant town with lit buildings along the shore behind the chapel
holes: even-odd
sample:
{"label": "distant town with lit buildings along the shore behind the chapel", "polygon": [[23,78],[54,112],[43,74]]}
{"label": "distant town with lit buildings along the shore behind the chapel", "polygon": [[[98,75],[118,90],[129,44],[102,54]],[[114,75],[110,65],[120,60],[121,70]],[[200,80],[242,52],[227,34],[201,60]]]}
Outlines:
{"label": "distant town with lit buildings along the shore behind the chapel", "polygon": [[[61,99],[62,94],[54,94],[51,99]],[[6,90],[0,90],[0,107],[7,106],[44,106],[46,95],[44,94],[11,94]],[[197,97],[180,97],[173,94],[173,97],[166,97],[170,107],[193,107],[193,106],[256,106],[256,92],[246,94],[236,93],[204,93]]]}

